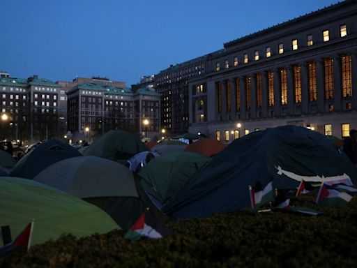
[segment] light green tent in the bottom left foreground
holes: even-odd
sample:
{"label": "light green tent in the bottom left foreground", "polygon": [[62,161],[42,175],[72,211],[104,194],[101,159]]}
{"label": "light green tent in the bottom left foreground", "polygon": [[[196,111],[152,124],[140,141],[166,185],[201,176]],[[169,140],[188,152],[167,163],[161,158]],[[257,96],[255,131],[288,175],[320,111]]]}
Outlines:
{"label": "light green tent in the bottom left foreground", "polygon": [[86,237],[120,229],[93,204],[36,181],[0,177],[0,225],[9,225],[15,239],[33,219],[32,245],[58,239],[62,234]]}

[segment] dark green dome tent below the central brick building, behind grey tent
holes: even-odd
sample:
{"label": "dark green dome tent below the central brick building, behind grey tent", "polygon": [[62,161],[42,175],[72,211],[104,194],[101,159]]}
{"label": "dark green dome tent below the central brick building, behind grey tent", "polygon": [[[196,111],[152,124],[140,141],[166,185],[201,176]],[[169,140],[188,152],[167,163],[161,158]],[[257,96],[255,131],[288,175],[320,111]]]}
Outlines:
{"label": "dark green dome tent below the central brick building, behind grey tent", "polygon": [[121,163],[140,151],[150,149],[139,140],[139,137],[126,131],[108,131],[96,139],[83,151],[84,156],[98,156]]}

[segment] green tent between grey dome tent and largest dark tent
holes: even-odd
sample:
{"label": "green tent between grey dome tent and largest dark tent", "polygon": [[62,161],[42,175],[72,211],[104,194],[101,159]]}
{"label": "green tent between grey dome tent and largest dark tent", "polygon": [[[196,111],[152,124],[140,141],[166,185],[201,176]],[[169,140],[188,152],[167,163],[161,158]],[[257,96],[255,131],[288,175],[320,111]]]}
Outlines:
{"label": "green tent between grey dome tent and largest dark tent", "polygon": [[160,204],[169,202],[210,158],[188,151],[173,151],[153,158],[139,172],[146,193]]}

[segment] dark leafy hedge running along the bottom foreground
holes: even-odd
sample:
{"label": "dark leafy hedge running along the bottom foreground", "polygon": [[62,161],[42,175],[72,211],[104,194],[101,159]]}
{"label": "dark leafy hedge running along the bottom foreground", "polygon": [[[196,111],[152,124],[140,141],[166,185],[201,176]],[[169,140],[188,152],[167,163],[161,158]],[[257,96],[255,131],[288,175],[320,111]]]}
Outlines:
{"label": "dark leafy hedge running along the bottom foreground", "polygon": [[168,225],[172,237],[131,242],[123,231],[64,235],[4,260],[1,267],[356,267],[357,198],[346,207],[291,200],[319,216],[248,209]]}

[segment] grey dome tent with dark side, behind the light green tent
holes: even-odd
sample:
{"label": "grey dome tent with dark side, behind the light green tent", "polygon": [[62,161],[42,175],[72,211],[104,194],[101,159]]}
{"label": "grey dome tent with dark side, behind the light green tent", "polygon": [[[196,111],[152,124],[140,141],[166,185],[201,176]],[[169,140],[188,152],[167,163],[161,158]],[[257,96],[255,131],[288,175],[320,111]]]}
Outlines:
{"label": "grey dome tent with dark side, behind the light green tent", "polygon": [[128,168],[97,156],[59,161],[33,179],[96,204],[123,229],[128,229],[147,207],[154,208]]}

